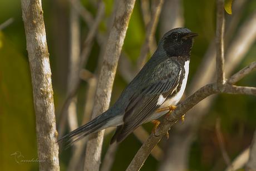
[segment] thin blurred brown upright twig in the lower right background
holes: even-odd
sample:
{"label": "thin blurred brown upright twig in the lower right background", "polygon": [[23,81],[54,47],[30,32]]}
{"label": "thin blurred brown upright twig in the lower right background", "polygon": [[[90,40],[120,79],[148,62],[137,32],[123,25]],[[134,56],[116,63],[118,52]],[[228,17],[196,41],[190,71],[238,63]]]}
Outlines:
{"label": "thin blurred brown upright twig in the lower right background", "polygon": [[230,164],[230,158],[228,156],[227,150],[224,145],[223,134],[221,133],[219,118],[216,120],[215,129],[216,129],[216,135],[217,135],[217,139],[219,142],[222,157],[223,157],[225,163],[227,164],[227,166],[232,167]]}

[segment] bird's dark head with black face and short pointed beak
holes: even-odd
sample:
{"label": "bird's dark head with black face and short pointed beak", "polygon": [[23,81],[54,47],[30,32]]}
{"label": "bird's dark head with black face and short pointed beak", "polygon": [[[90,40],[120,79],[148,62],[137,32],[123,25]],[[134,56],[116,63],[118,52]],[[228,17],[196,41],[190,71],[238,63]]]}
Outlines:
{"label": "bird's dark head with black face and short pointed beak", "polygon": [[188,28],[174,28],[165,33],[159,48],[168,56],[190,56],[195,36],[198,34],[191,32]]}

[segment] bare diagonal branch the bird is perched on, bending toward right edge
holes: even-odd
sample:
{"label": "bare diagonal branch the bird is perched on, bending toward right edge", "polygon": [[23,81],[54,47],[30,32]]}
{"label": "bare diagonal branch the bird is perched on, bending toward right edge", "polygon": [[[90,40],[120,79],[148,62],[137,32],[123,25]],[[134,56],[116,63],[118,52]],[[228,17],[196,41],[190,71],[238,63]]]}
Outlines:
{"label": "bare diagonal branch the bird is perched on, bending toward right edge", "polygon": [[227,83],[221,85],[221,90],[218,89],[217,83],[207,84],[200,88],[194,94],[190,95],[190,97],[179,103],[168,119],[164,119],[164,121],[161,122],[159,127],[156,129],[156,133],[151,134],[147,141],[141,146],[126,170],[139,170],[144,164],[146,158],[149,156],[151,150],[161,140],[166,132],[168,132],[170,127],[172,127],[177,120],[179,120],[186,112],[188,112],[188,110],[193,108],[201,100],[216,93],[256,95],[256,88],[233,86]]}

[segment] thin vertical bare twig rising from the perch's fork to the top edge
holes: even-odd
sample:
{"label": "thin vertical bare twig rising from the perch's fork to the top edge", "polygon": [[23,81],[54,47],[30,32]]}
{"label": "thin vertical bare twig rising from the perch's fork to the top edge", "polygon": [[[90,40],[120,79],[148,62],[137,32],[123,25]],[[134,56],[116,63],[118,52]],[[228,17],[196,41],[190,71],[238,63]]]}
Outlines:
{"label": "thin vertical bare twig rising from the perch's fork to the top edge", "polygon": [[224,84],[224,0],[217,0],[216,12],[216,72],[218,88]]}

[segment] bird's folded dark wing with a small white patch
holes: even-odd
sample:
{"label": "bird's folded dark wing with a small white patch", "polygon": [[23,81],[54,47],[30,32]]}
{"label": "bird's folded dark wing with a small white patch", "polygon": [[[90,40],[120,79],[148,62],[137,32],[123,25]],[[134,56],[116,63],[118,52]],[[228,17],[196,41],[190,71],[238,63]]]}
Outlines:
{"label": "bird's folded dark wing with a small white patch", "polygon": [[180,79],[181,67],[179,63],[170,59],[160,63],[152,73],[147,73],[145,87],[137,90],[129,99],[125,109],[124,125],[119,127],[113,140],[121,142],[134,129],[154,114],[165,99],[174,92]]}

